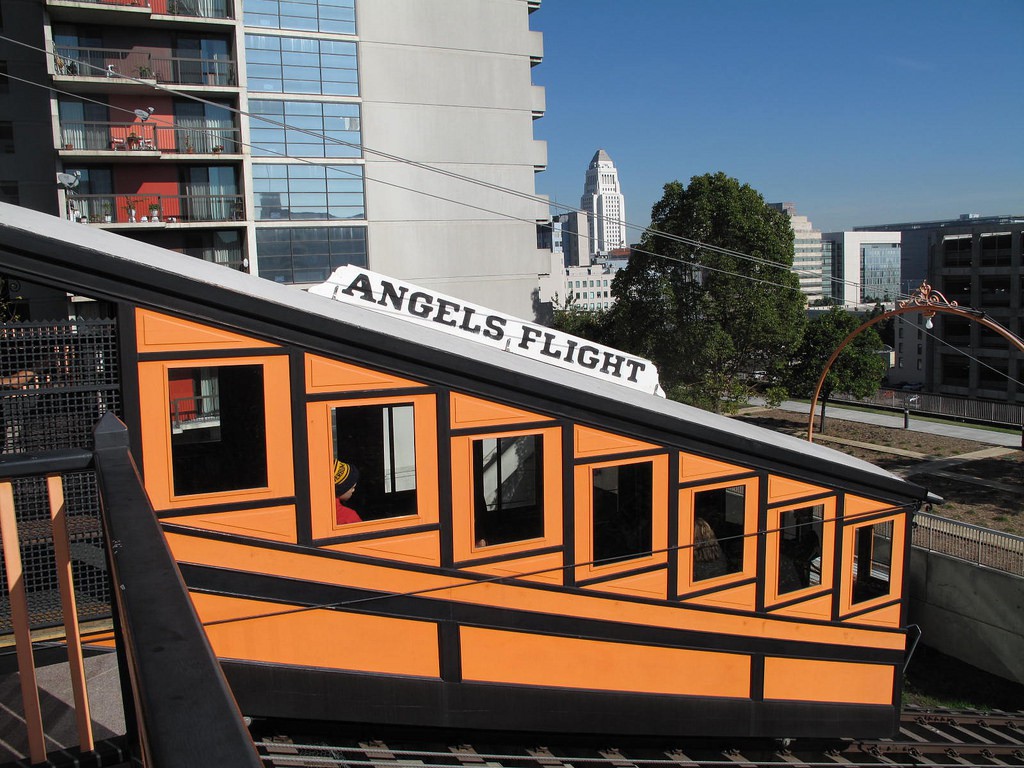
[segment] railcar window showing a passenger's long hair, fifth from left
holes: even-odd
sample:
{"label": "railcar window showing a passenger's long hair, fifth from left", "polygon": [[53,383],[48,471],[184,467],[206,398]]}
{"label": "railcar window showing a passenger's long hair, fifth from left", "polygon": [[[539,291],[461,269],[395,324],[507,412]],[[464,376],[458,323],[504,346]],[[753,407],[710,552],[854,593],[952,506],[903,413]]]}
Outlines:
{"label": "railcar window showing a passenger's long hair, fifth from left", "polygon": [[693,495],[694,582],[743,569],[745,497],[745,485]]}

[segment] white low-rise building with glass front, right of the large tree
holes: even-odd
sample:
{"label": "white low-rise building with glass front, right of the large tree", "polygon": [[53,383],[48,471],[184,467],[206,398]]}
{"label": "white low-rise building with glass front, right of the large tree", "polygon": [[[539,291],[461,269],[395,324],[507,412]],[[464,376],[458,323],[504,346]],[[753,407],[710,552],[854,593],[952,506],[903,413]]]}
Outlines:
{"label": "white low-rise building with glass front, right of the large tree", "polygon": [[824,293],[845,306],[892,303],[900,296],[899,232],[843,231],[821,236]]}

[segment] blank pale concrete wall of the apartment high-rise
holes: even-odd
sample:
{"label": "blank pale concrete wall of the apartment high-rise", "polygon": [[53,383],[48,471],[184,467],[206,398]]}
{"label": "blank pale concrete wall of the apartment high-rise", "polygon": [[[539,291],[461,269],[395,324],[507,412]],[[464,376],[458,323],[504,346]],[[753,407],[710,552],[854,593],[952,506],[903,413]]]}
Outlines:
{"label": "blank pale concrete wall of the apartment high-rise", "polygon": [[527,318],[547,207],[493,187],[531,196],[547,163],[528,12],[523,0],[356,3],[367,147],[453,174],[365,152],[370,267]]}

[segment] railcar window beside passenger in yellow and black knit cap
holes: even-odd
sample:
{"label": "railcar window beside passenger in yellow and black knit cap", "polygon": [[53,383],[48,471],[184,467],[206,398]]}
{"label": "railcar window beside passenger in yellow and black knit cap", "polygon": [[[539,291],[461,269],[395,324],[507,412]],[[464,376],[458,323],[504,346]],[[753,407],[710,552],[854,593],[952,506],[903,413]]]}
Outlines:
{"label": "railcar window beside passenger in yellow and black knit cap", "polygon": [[414,416],[412,403],[331,409],[335,459],[351,473],[346,485],[357,477],[355,490],[344,501],[356,514],[339,517],[339,522],[416,514]]}

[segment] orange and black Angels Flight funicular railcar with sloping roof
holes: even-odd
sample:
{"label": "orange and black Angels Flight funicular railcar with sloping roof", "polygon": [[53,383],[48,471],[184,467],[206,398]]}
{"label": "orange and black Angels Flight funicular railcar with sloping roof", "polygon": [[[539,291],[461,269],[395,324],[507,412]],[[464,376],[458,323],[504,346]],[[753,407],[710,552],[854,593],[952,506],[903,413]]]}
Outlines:
{"label": "orange and black Angels Flight funicular railcar with sloping roof", "polygon": [[923,488],[453,337],[486,326],[429,292],[411,324],[22,209],[0,231],[3,270],[116,305],[136,459],[245,714],[895,729]]}

